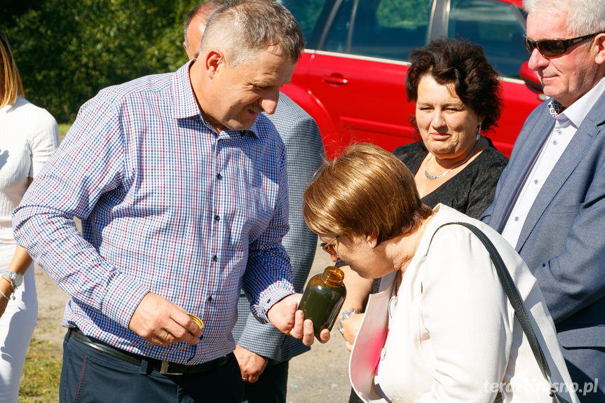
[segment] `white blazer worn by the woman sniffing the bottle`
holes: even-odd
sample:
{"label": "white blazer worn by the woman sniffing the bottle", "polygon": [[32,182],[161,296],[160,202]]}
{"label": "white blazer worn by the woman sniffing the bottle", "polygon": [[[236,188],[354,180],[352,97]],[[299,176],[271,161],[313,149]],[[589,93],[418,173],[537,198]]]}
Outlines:
{"label": "white blazer worn by the woman sniffing the bottle", "polygon": [[481,241],[463,226],[437,231],[442,224],[465,221],[480,228],[501,254],[524,299],[552,381],[562,397],[577,403],[555,325],[529,268],[489,226],[445,205],[434,212],[390,313],[393,275],[381,281],[383,291],[370,296],[349,365],[355,392],[365,402],[386,402],[378,388],[393,403],[494,402],[499,395],[507,403],[552,402]]}

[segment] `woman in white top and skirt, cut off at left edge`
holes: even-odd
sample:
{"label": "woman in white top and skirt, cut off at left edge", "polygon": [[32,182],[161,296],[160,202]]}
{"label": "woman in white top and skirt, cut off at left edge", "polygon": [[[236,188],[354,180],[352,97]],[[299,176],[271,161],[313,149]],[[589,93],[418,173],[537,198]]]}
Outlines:
{"label": "woman in white top and skirt, cut off at left edge", "polygon": [[0,29],[0,402],[17,402],[38,316],[34,265],[13,239],[11,214],[58,144],[53,116],[23,98],[21,78]]}

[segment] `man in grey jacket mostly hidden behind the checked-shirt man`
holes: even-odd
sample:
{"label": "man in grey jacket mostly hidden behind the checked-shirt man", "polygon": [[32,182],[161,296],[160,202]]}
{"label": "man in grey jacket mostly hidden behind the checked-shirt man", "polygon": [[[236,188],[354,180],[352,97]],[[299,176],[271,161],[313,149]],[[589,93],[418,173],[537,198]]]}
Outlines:
{"label": "man in grey jacket mostly hidden behind the checked-shirt man", "polygon": [[[183,46],[190,59],[198,57],[205,23],[222,3],[208,1],[187,15]],[[317,235],[308,229],[304,221],[302,200],[308,182],[320,166],[323,144],[317,123],[283,93],[279,95],[275,113],[267,117],[276,126],[286,147],[290,231],[283,238],[283,245],[292,263],[294,289],[302,292],[317,247]],[[285,402],[288,363],[292,357],[306,352],[308,347],[300,340],[279,332],[271,324],[259,323],[250,314],[249,304],[241,292],[238,322],[233,329],[237,342],[234,353],[242,376],[247,379],[243,402]]]}

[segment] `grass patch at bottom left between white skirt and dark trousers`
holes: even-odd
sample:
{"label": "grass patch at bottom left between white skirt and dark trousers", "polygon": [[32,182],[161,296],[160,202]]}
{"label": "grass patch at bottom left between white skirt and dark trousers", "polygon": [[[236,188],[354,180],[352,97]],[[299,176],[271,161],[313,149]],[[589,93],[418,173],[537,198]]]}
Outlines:
{"label": "grass patch at bottom left between white skirt and dark trousers", "polygon": [[59,400],[62,352],[53,343],[29,343],[21,374],[19,403],[54,403]]}

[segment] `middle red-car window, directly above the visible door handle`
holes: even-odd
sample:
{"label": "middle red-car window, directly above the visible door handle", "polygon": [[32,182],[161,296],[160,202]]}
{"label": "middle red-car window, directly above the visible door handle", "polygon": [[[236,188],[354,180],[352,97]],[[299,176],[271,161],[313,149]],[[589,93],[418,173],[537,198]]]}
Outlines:
{"label": "middle red-car window, directly above the visible door handle", "polygon": [[392,60],[426,43],[433,0],[345,0],[325,50]]}

